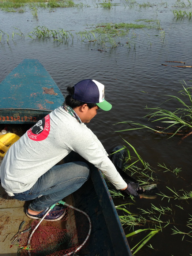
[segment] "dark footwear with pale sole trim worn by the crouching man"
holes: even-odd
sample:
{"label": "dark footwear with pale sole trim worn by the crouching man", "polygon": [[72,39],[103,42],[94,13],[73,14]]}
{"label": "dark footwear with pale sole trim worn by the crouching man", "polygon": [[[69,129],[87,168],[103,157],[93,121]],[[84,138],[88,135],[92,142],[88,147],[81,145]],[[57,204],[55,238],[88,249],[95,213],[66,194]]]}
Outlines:
{"label": "dark footwear with pale sole trim worn by the crouching man", "polygon": [[[30,214],[26,210],[26,215],[31,219],[42,219],[42,217],[45,215],[45,213],[49,210],[49,207],[47,207],[44,211],[37,215]],[[46,215],[44,218],[45,221],[59,221],[64,215],[65,215],[66,209],[65,206],[54,206],[52,210]]]}

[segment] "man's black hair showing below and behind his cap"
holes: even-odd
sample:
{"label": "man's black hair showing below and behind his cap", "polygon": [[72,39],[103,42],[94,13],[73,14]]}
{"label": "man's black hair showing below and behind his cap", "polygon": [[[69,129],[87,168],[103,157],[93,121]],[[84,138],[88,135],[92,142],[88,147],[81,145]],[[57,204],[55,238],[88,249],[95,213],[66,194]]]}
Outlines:
{"label": "man's black hair showing below and behind his cap", "polygon": [[74,95],[74,86],[68,86],[67,87],[67,91],[68,91],[68,95],[65,98],[65,104],[67,104],[69,107],[71,107],[72,109],[80,107],[84,104],[87,104],[88,108],[94,108],[97,105],[95,103],[87,103],[87,102],[83,102],[83,101],[78,101],[76,99],[73,98]]}

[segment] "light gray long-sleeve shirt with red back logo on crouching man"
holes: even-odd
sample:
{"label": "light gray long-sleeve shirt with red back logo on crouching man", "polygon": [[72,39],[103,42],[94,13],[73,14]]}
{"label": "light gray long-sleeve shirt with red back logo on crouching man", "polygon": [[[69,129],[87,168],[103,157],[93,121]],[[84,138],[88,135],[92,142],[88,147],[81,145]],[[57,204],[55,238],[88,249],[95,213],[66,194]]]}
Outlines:
{"label": "light gray long-sleeve shirt with red back logo on crouching man", "polygon": [[27,191],[72,150],[100,169],[117,189],[127,186],[94,133],[60,106],[7,151],[0,166],[2,187],[11,193]]}

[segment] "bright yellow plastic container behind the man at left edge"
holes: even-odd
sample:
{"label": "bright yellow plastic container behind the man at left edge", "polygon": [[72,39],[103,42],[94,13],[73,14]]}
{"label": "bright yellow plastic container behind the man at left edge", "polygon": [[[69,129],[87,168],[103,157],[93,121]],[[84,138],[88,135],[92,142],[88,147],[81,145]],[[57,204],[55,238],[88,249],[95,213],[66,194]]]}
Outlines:
{"label": "bright yellow plastic container behind the man at left edge", "polygon": [[4,157],[7,150],[14,144],[20,137],[15,133],[6,133],[0,135],[0,156]]}

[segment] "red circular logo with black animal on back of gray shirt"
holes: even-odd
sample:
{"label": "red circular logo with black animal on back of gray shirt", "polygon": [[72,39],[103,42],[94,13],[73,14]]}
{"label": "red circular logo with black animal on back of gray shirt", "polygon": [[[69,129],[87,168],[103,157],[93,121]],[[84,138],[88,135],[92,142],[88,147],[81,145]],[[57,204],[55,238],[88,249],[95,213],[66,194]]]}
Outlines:
{"label": "red circular logo with black animal on back of gray shirt", "polygon": [[49,115],[39,120],[33,127],[27,131],[27,135],[31,140],[41,141],[47,138],[50,131]]}

